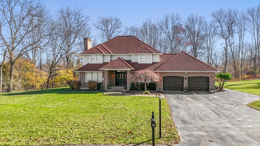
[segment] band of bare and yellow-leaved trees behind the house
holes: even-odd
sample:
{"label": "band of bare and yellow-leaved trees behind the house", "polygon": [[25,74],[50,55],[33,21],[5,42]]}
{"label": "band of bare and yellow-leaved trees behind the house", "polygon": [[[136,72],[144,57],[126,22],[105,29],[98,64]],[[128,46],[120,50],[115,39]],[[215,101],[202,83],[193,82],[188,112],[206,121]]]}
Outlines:
{"label": "band of bare and yellow-leaved trees behind the house", "polygon": [[[40,1],[3,0],[0,92],[66,86],[66,81],[77,79],[74,70],[82,66],[78,54],[84,50],[84,37],[95,46],[118,35],[134,35],[163,53],[184,50],[233,78],[259,77],[259,4],[245,11],[220,8],[210,15],[212,21],[198,14],[187,18],[165,14],[140,26],[124,26],[116,16],[100,16],[90,24],[90,16],[79,7],[62,7],[50,14]],[[216,48],[219,40],[223,48]]]}

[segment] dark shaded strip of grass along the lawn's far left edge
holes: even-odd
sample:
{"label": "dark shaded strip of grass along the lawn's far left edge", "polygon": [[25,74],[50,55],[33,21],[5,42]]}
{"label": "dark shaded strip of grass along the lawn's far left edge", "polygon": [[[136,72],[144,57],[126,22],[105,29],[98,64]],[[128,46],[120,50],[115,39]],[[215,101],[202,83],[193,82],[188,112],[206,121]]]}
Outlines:
{"label": "dark shaded strip of grass along the lawn's far left edge", "polygon": [[100,93],[100,92],[70,91],[69,88],[52,88],[52,89],[42,89],[42,90],[34,90],[34,91],[2,93],[2,94],[0,94],[0,96],[53,94],[53,93],[56,93],[56,94],[96,94],[96,93]]}

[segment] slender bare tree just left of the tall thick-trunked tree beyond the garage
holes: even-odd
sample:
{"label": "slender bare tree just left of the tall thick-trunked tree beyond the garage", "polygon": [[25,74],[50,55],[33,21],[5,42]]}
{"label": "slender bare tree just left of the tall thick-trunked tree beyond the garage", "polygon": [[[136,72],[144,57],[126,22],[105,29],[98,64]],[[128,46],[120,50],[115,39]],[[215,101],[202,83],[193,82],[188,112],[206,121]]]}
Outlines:
{"label": "slender bare tree just left of the tall thick-trunked tree beyond the garage", "polygon": [[205,25],[205,47],[207,49],[207,63],[213,65],[213,53],[216,48],[217,37],[217,27],[211,21]]}

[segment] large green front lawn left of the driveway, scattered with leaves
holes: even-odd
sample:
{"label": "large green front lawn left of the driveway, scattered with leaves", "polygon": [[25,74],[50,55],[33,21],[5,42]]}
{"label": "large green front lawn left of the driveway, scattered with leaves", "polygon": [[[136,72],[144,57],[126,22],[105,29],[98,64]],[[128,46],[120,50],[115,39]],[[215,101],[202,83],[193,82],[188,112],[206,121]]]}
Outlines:
{"label": "large green front lawn left of the driveway, scattered with leaves", "polygon": [[[69,88],[0,94],[0,145],[151,144],[151,114],[159,137],[156,97],[68,92]],[[162,139],[179,142],[170,107],[162,99]]]}

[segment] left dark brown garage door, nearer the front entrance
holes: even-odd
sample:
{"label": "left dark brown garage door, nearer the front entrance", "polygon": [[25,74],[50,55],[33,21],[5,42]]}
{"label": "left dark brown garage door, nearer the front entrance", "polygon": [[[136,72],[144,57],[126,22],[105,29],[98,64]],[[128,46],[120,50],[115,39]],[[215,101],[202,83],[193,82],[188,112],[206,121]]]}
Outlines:
{"label": "left dark brown garage door, nearer the front entrance", "polygon": [[183,77],[163,77],[164,91],[183,91]]}

